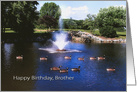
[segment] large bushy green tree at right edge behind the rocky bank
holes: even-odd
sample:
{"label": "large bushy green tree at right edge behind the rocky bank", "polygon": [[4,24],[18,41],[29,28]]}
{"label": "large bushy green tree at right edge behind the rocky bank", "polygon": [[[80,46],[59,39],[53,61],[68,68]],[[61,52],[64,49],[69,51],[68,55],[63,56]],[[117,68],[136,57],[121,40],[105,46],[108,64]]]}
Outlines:
{"label": "large bushy green tree at right edge behind the rocky bank", "polygon": [[116,31],[125,30],[126,9],[114,6],[100,9],[97,14],[97,24],[102,36],[116,37]]}

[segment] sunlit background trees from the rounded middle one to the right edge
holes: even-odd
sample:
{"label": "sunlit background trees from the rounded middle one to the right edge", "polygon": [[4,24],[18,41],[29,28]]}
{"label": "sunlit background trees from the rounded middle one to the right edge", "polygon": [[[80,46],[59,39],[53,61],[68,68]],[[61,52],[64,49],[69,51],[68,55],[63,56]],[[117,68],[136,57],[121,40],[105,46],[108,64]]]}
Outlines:
{"label": "sunlit background trees from the rounded middle one to the right edge", "polygon": [[[37,28],[58,29],[61,10],[55,3],[45,3],[40,10]],[[126,30],[126,8],[110,6],[101,8],[97,15],[88,14],[85,20],[63,19],[64,29],[85,29],[91,32],[99,29],[102,36],[116,37],[116,31]]]}

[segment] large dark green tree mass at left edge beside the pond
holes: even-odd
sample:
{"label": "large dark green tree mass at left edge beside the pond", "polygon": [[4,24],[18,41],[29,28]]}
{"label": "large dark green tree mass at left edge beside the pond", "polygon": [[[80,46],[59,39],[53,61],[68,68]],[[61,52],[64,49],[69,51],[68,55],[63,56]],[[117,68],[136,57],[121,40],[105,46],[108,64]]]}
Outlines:
{"label": "large dark green tree mass at left edge beside the pond", "polygon": [[2,26],[8,23],[21,38],[31,37],[34,32],[34,22],[38,18],[37,4],[37,1],[3,1]]}

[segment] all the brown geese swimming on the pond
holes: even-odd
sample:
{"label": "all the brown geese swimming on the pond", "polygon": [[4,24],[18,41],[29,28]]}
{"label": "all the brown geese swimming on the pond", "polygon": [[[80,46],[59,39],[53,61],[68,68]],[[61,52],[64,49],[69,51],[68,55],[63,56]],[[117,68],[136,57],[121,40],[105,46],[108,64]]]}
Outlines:
{"label": "all the brown geese swimming on the pond", "polygon": [[[18,60],[22,60],[23,59],[23,55],[21,56],[17,56],[16,59]],[[71,56],[65,56],[64,59],[70,60]],[[48,60],[48,56],[46,57],[40,57],[41,61],[47,61]],[[82,60],[84,61],[84,58],[79,57],[78,60]],[[105,60],[105,57],[90,57],[90,60]],[[59,71],[60,73],[67,73],[68,72],[68,67],[67,69],[60,69],[62,66],[59,67],[52,67],[50,68],[50,70],[52,71]],[[80,66],[78,68],[72,68],[71,71],[80,71]],[[108,72],[114,72],[115,68],[107,68],[106,71]]]}

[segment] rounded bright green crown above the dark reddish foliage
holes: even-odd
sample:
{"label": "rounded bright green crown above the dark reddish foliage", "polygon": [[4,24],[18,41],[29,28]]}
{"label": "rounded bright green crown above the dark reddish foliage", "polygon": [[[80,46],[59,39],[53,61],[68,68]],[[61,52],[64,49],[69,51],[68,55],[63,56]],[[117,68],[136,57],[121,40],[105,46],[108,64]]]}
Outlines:
{"label": "rounded bright green crown above the dark reddish foliage", "polygon": [[51,16],[58,20],[61,16],[61,9],[59,5],[56,5],[53,2],[45,3],[40,9],[40,16]]}

